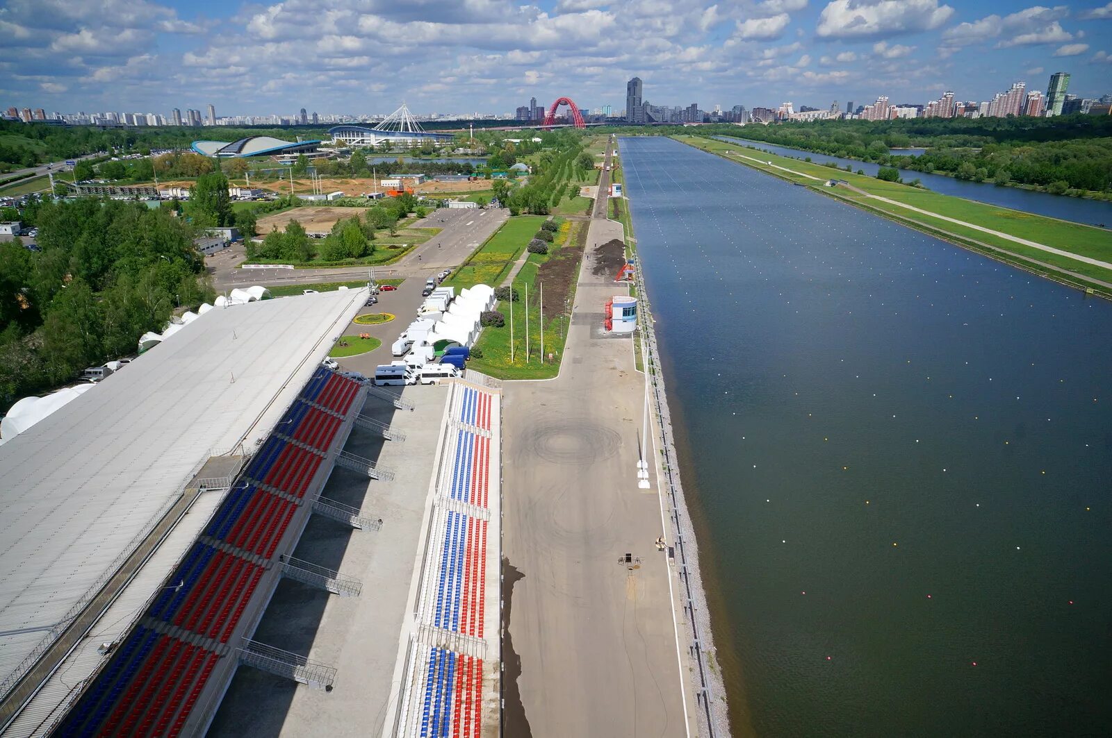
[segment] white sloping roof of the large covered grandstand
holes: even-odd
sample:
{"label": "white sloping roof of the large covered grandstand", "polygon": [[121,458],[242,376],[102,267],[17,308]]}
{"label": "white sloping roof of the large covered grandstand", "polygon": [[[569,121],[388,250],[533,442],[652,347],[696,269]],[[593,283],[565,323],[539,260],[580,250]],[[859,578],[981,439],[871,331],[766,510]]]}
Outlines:
{"label": "white sloping roof of the large covered grandstand", "polygon": [[[341,290],[209,310],[0,446],[0,697],[210,456],[254,451],[365,300]],[[207,518],[179,526],[199,531]],[[151,557],[131,601],[176,562]],[[71,684],[91,672],[66,670]]]}

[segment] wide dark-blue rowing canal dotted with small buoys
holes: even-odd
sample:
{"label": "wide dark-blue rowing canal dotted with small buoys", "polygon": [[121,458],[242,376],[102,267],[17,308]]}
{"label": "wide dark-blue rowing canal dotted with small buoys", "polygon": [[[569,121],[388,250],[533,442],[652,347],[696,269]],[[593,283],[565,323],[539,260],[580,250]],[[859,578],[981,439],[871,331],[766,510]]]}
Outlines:
{"label": "wide dark-blue rowing canal dotted with small buoys", "polygon": [[620,147],[735,735],[1110,735],[1112,305]]}

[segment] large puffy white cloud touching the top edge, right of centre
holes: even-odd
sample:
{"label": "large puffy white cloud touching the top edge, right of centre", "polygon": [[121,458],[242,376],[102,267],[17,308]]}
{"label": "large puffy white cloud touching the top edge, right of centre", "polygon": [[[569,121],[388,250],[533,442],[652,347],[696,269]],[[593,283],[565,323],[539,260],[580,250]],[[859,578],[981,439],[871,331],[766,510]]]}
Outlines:
{"label": "large puffy white cloud touching the top edge, right of centre", "polygon": [[818,17],[821,38],[850,39],[929,31],[954,13],[939,0],[833,0]]}

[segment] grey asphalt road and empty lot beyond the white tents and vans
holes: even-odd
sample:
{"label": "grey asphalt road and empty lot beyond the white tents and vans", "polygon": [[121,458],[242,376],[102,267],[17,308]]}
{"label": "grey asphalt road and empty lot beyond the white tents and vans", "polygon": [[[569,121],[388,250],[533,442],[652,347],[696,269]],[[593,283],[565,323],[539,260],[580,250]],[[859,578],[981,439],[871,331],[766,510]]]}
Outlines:
{"label": "grey asphalt road and empty lot beyond the white tents and vans", "polygon": [[[433,211],[415,227],[443,228],[439,233],[421,243],[397,262],[376,267],[379,278],[427,277],[446,267],[456,267],[478,248],[502,223],[509,211],[451,210]],[[419,257],[419,258],[418,258]],[[367,267],[336,267],[331,269],[236,269],[244,261],[242,247],[226,249],[205,260],[217,291],[249,285],[308,285],[311,282],[341,282],[367,278]],[[420,290],[418,289],[418,293]],[[416,308],[415,308],[416,309]]]}

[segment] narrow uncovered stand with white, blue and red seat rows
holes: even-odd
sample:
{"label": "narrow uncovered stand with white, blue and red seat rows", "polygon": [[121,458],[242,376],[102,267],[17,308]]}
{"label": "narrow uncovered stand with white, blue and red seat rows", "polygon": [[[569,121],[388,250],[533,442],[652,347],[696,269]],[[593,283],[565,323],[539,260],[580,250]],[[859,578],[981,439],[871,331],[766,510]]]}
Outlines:
{"label": "narrow uncovered stand with white, blue and red seat rows", "polygon": [[497,732],[499,403],[497,390],[465,381],[451,388],[384,735]]}

